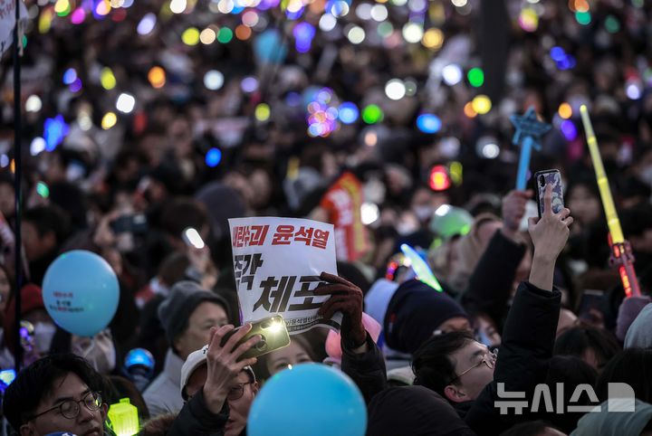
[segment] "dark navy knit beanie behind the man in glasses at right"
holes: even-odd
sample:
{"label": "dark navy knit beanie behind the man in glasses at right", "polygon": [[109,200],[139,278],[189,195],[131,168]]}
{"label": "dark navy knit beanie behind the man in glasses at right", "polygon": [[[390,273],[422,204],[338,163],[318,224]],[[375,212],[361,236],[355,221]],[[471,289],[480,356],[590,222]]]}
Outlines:
{"label": "dark navy knit beanie behind the man in glasses at right", "polygon": [[467,318],[465,309],[444,292],[437,292],[419,280],[401,284],[385,314],[383,328],[387,345],[412,354],[450,318]]}

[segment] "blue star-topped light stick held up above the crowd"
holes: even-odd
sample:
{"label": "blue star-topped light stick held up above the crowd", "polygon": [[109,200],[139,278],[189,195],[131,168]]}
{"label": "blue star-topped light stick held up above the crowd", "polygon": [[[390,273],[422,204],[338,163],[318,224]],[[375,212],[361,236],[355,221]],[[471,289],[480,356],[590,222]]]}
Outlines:
{"label": "blue star-topped light stick held up above the crowd", "polygon": [[532,147],[535,150],[541,150],[541,137],[551,129],[551,125],[539,121],[532,106],[527,109],[525,115],[513,115],[510,117],[510,121],[516,128],[512,143],[515,146],[521,146],[518,175],[516,175],[516,189],[523,191],[527,183],[527,173],[530,169]]}

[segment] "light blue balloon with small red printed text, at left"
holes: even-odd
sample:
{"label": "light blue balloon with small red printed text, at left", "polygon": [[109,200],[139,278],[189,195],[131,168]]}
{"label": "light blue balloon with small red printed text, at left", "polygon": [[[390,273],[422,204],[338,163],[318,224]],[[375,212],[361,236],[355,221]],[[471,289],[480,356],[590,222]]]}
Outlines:
{"label": "light blue balloon with small red printed text, at left", "polygon": [[43,303],[59,327],[77,336],[106,328],[118,309],[120,285],[109,263],[91,251],[68,251],[45,272]]}

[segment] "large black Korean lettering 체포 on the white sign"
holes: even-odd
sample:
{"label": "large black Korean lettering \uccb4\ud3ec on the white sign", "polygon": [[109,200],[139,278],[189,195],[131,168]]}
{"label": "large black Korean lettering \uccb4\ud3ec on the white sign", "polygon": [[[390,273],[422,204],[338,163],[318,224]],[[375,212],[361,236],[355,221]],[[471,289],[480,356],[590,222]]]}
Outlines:
{"label": "large black Korean lettering \uccb4\ud3ec on the white sign", "polygon": [[[268,277],[261,281],[261,288],[263,293],[260,299],[254,304],[254,311],[257,308],[263,307],[270,313],[278,313],[285,311],[298,311],[320,308],[321,303],[312,301],[314,293],[312,292],[315,287],[311,289],[313,283],[319,283],[321,280],[319,276],[302,276],[299,278],[300,289],[294,290],[294,284],[297,281],[296,276],[282,276],[278,279],[276,277]],[[301,303],[291,304],[288,303],[292,298],[292,293],[295,299],[302,298]]]}

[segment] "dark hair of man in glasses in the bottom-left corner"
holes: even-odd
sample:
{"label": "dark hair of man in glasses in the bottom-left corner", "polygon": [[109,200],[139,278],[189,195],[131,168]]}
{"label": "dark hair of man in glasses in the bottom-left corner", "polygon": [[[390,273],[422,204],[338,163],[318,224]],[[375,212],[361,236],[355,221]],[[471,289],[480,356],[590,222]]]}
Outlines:
{"label": "dark hair of man in glasses in the bottom-left corner", "polygon": [[91,391],[101,391],[101,375],[78,355],[48,355],[27,366],[7,387],[3,412],[7,421],[20,431],[34,414],[44,397],[56,389],[54,381],[67,374],[76,374]]}

